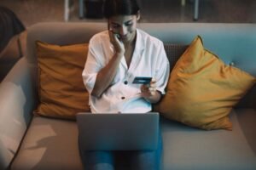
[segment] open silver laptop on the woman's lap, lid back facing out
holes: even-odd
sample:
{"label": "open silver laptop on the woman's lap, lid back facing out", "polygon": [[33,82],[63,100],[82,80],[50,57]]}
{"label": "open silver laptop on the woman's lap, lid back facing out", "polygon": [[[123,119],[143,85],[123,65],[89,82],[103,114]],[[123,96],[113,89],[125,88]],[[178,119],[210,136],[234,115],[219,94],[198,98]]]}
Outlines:
{"label": "open silver laptop on the woman's lap, lid back facing out", "polygon": [[79,113],[79,145],[83,150],[155,150],[159,113]]}

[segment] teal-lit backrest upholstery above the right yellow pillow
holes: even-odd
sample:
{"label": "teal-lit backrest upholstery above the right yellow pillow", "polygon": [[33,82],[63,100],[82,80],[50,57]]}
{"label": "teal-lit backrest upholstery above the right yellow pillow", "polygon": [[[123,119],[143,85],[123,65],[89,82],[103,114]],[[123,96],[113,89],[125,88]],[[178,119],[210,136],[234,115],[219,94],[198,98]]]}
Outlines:
{"label": "teal-lit backrest upholstery above the right yellow pillow", "polygon": [[221,56],[226,65],[232,64],[256,76],[255,24],[142,23],[138,26],[164,43],[189,44],[195,36],[201,35],[204,47]]}

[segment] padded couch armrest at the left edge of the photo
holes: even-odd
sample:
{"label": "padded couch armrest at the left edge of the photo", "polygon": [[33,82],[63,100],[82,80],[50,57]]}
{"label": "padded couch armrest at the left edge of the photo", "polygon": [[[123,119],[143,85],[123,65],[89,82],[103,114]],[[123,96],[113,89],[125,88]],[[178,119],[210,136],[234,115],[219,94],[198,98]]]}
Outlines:
{"label": "padded couch armrest at the left edge of the photo", "polygon": [[32,119],[37,99],[31,75],[23,57],[0,84],[0,169],[9,167]]}

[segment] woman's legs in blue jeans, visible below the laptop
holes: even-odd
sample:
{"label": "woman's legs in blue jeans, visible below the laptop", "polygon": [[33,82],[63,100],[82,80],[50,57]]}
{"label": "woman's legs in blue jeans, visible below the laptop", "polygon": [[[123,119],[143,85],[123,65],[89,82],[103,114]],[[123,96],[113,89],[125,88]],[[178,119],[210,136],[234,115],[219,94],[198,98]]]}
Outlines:
{"label": "woman's legs in blue jeans, visible below the laptop", "polygon": [[[159,137],[157,150],[125,150],[125,151],[82,151],[85,170],[160,169],[162,139]],[[81,149],[81,147],[80,147]]]}

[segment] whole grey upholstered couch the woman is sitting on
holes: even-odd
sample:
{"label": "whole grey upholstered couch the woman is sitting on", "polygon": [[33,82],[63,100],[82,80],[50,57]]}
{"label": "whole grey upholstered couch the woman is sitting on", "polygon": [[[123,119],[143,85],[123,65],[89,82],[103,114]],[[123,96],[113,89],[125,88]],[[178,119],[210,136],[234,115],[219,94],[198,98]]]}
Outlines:
{"label": "whole grey upholstered couch the woman is sitting on", "polygon": [[[141,23],[165,44],[171,66],[196,35],[227,65],[256,76],[255,24]],[[0,86],[0,169],[83,169],[75,121],[34,116],[38,105],[35,41],[88,42],[105,23],[39,23],[27,31],[27,53]],[[256,169],[256,88],[230,114],[233,130],[205,131],[160,118],[163,170]]]}

